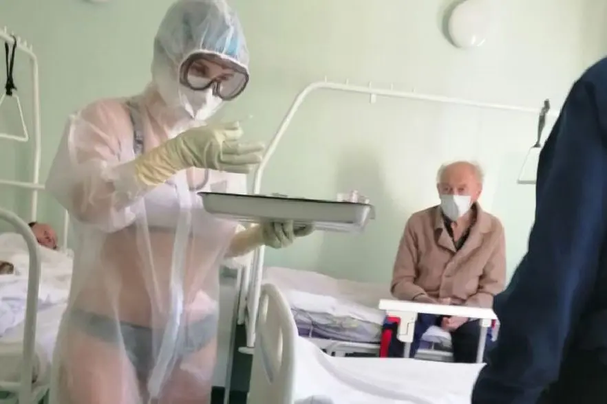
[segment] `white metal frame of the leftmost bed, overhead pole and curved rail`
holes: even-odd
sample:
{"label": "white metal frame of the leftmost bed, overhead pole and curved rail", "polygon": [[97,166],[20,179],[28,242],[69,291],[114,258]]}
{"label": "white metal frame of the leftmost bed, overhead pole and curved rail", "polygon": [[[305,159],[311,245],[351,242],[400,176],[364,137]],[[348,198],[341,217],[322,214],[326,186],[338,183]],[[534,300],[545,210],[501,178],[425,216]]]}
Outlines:
{"label": "white metal frame of the leftmost bed, overhead pole and curved rail", "polygon": [[[37,404],[48,390],[47,385],[38,385],[34,388],[32,385],[32,374],[34,370],[35,343],[36,343],[36,317],[38,311],[38,291],[40,281],[40,258],[39,246],[32,230],[27,222],[36,221],[38,211],[38,192],[44,190],[43,184],[40,183],[40,164],[41,164],[41,123],[40,123],[40,84],[39,84],[39,65],[38,58],[32,49],[32,46],[12,34],[6,27],[0,30],[0,39],[9,45],[13,45],[17,40],[17,50],[19,54],[30,60],[31,79],[32,79],[32,126],[33,136],[30,138],[28,131],[24,128],[23,136],[16,136],[7,133],[0,133],[0,142],[17,141],[26,143],[32,140],[34,149],[34,158],[32,159],[33,169],[30,182],[15,181],[12,179],[0,179],[0,189],[3,187],[20,188],[30,190],[32,198],[30,200],[30,212],[28,220],[24,221],[13,212],[0,209],[0,220],[10,223],[17,233],[21,234],[25,239],[30,254],[30,272],[28,278],[28,298],[25,307],[25,328],[23,335],[23,361],[21,363],[21,380],[16,383],[12,381],[0,381],[0,390],[18,394],[20,404]],[[2,97],[6,103],[9,97]],[[21,103],[16,98],[19,109]],[[1,103],[0,103],[1,104]],[[25,121],[22,117],[22,123]],[[69,215],[63,211],[63,229],[61,232],[61,247],[67,247],[67,232],[70,227]],[[8,399],[0,399],[0,404],[15,403],[14,396]]]}

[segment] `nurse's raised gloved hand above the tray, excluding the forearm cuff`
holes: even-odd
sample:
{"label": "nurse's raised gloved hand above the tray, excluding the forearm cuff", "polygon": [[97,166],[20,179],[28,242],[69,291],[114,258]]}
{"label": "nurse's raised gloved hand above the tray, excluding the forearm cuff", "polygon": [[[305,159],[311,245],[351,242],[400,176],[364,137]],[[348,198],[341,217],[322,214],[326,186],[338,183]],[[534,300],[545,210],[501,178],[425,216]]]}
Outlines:
{"label": "nurse's raised gloved hand above the tray, excluding the forearm cuff", "polygon": [[242,142],[238,122],[192,128],[169,141],[183,168],[248,173],[262,161],[264,145]]}

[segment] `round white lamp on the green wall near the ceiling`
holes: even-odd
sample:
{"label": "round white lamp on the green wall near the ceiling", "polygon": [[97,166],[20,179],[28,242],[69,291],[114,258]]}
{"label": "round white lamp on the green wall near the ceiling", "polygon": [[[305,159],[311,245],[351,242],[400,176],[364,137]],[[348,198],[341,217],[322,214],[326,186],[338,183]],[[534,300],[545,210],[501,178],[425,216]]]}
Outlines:
{"label": "round white lamp on the green wall near the ceiling", "polygon": [[449,39],[456,47],[479,47],[491,27],[492,0],[465,0],[451,11],[447,23]]}

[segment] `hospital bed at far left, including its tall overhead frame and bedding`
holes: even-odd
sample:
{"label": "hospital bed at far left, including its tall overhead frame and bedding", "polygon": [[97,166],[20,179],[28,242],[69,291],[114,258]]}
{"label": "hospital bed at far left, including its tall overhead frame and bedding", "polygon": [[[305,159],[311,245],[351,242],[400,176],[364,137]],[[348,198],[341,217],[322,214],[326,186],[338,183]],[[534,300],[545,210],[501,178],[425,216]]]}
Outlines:
{"label": "hospital bed at far left, including its tall overhead frame and bedding", "polygon": [[[28,213],[23,218],[0,208],[0,221],[8,222],[16,232],[0,234],[0,260],[12,263],[15,269],[13,274],[0,276],[0,404],[33,404],[43,399],[50,385],[52,351],[67,302],[72,256],[67,250],[39,247],[27,224],[36,221],[39,192],[44,190],[40,183],[39,65],[32,46],[6,27],[0,29],[0,41],[17,51],[17,87],[28,89],[26,94],[19,91],[10,96],[0,94],[0,113],[6,111],[14,117],[16,105],[21,126],[6,128],[3,125],[3,131],[10,133],[0,133],[0,149],[10,150],[30,165],[27,170],[21,166],[19,170],[28,173],[27,181],[0,178],[0,191],[3,195],[8,194],[9,189],[32,192]],[[23,60],[28,63],[22,63]],[[20,86],[21,79],[29,81],[28,85]],[[19,96],[25,96],[31,103],[21,104]],[[3,117],[6,115],[0,115],[0,120]],[[19,150],[32,153],[32,158],[21,157]],[[62,247],[67,245],[68,227],[67,212],[63,211],[63,228],[59,232]]]}

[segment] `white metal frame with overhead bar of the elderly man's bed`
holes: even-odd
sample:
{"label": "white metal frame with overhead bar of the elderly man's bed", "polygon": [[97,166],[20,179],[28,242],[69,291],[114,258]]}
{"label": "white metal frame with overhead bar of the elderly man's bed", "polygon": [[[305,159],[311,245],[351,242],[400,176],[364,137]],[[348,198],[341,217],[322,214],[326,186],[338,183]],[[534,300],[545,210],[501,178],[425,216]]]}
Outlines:
{"label": "white metal frame with overhead bar of the elderly man's bed", "polygon": [[[416,93],[415,89],[412,91],[401,91],[394,89],[394,85],[390,86],[390,88],[378,88],[374,87],[372,83],[369,83],[368,86],[364,85],[352,85],[349,80],[345,82],[330,82],[326,78],[323,81],[312,82],[310,85],[307,85],[303,90],[297,94],[295,100],[292,102],[290,109],[288,109],[286,115],[284,116],[279,128],[277,129],[275,135],[270,140],[270,144],[266,149],[266,154],[262,159],[261,164],[257,167],[255,171],[255,177],[253,181],[253,194],[260,194],[262,190],[262,179],[264,175],[264,171],[266,170],[266,166],[272,156],[274,155],[279,142],[282,137],[285,135],[290,123],[292,122],[295,113],[299,110],[301,105],[304,103],[306,98],[310,96],[310,94],[314,91],[320,90],[328,90],[328,91],[339,91],[341,93],[353,93],[353,94],[362,94],[370,97],[370,102],[376,102],[377,96],[383,96],[387,98],[401,98],[404,100],[413,100],[418,102],[433,102],[439,104],[451,104],[451,105],[459,105],[459,106],[467,106],[470,108],[476,109],[490,109],[490,110],[498,110],[498,111],[509,111],[513,113],[526,113],[531,115],[540,115],[541,108],[526,108],[523,106],[514,106],[507,104],[496,104],[496,103],[487,103],[487,102],[477,102],[471,100],[464,100],[459,98],[449,98],[445,96],[436,96],[430,94]],[[553,109],[547,115],[551,117],[557,117],[560,109]],[[240,288],[237,293],[238,296],[238,306],[237,306],[237,319],[233,324],[233,330],[235,330],[236,324],[244,324],[246,327],[246,346],[240,347],[240,352],[245,352],[251,354],[253,352],[253,348],[255,346],[255,329],[257,325],[257,315],[259,313],[259,304],[262,293],[262,284],[263,284],[263,272],[264,272],[264,261],[265,261],[265,247],[259,247],[259,249],[255,250],[255,254],[253,256],[253,263],[250,267],[246,267],[239,273],[239,284]],[[323,340],[318,340],[319,344],[323,344],[321,342]],[[228,368],[227,368],[227,377],[226,377],[226,400],[224,401],[226,404],[229,399],[228,396],[230,390],[230,381],[231,381],[231,366],[233,361],[233,352],[235,348],[235,336],[232,335],[232,341],[230,346],[230,355],[228,358]],[[370,344],[359,344],[354,342],[346,342],[346,341],[330,341],[326,344],[329,344],[329,348],[331,349],[339,349],[339,350],[348,350],[352,352],[368,352],[369,350],[373,350],[370,347]]]}

